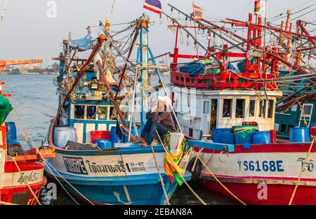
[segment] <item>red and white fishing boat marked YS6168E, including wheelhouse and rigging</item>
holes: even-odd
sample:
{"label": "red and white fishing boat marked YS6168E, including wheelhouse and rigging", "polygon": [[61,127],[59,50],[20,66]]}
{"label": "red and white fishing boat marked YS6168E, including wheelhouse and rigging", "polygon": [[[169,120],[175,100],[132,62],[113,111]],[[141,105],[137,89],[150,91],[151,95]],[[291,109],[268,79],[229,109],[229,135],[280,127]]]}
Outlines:
{"label": "red and white fishing boat marked YS6168E, including wheelhouse and rigging", "polygon": [[[311,134],[309,128],[292,127],[285,143],[277,142],[275,130],[275,108],[283,97],[279,82],[287,80],[278,75],[279,64],[295,69],[300,74],[296,79],[310,78],[312,73],[289,63],[285,59],[289,52],[282,52],[282,47],[265,44],[263,33],[276,31],[304,42],[315,36],[263,24],[260,5],[255,1],[254,15],[249,13],[246,22],[225,19],[232,27],[247,29],[243,38],[169,4],[185,20],[196,23],[185,26],[172,18],[169,25],[176,30],[176,46],[170,55],[171,100],[188,143],[195,148],[187,169],[204,188],[242,204],[316,204],[315,127]],[[200,43],[190,28],[204,31],[209,45]],[[205,55],[179,53],[180,29]],[[231,46],[224,43],[219,48],[212,36]],[[236,48],[241,52],[232,51]],[[180,63],[178,59],[193,60]]]}

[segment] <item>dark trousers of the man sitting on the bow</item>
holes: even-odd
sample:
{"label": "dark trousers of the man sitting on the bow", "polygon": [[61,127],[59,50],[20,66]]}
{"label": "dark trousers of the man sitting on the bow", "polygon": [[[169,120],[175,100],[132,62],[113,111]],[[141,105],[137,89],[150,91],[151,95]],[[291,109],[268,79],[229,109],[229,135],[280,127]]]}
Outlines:
{"label": "dark trousers of the man sitting on the bow", "polygon": [[160,122],[152,122],[152,120],[147,120],[145,127],[143,128],[140,137],[146,140],[146,143],[150,145],[152,140],[154,140],[154,136],[156,135],[156,130],[158,131],[160,136],[164,136],[168,133],[169,128],[164,126]]}

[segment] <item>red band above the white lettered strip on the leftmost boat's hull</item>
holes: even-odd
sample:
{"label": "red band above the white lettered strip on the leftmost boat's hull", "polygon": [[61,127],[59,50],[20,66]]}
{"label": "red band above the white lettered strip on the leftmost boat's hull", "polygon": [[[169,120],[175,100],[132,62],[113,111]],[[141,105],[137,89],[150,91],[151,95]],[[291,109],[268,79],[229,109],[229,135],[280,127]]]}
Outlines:
{"label": "red band above the white lettered strip on the leftmost boat's hull", "polygon": [[[36,163],[36,162],[26,162],[26,161],[18,161],[17,162],[21,171],[32,171],[37,169],[44,169],[44,163]],[[18,172],[18,168],[16,167],[13,161],[6,161],[4,163],[4,172],[5,173],[13,173]]]}

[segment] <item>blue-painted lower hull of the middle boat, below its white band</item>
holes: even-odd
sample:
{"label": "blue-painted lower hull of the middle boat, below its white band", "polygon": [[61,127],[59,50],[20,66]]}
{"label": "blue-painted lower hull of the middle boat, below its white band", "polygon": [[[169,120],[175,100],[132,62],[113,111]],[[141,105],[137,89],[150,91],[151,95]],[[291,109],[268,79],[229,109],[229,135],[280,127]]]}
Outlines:
{"label": "blue-painted lower hull of the middle boat, below its white band", "polygon": [[[55,179],[51,171],[46,169],[46,174]],[[72,186],[65,182],[59,174],[65,178]],[[119,176],[116,178],[94,178],[94,177],[78,177],[65,173],[56,173],[58,180],[73,196],[79,197],[81,200],[88,203],[88,200],[93,204],[114,204],[114,205],[163,205],[166,202],[162,184],[160,183],[158,174],[143,174],[139,176]],[[176,183],[171,183],[169,177],[163,174],[165,190],[169,199],[177,188]],[[185,172],[184,178],[190,180],[190,173]],[[125,190],[124,190],[125,187]],[[81,194],[79,194],[79,192]],[[86,199],[83,198],[86,197]],[[128,198],[129,197],[129,198]],[[130,202],[129,202],[130,200]]]}

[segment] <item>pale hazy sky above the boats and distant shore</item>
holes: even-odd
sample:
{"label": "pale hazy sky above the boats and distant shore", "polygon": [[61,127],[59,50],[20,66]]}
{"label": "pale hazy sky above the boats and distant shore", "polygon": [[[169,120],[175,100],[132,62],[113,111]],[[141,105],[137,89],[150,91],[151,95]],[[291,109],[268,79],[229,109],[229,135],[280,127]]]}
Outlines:
{"label": "pale hazy sky above the boats and distant shore", "polygon": [[[44,65],[51,64],[52,57],[58,57],[62,48],[62,39],[67,38],[72,31],[72,38],[86,35],[88,25],[96,26],[99,20],[105,20],[110,15],[113,0],[55,0],[56,16],[47,15],[51,10],[48,0],[8,0],[4,21],[0,27],[0,59],[44,59]],[[0,0],[0,8],[5,0]],[[162,9],[170,14],[167,3],[191,13],[192,1],[161,0]],[[289,8],[293,11],[316,3],[316,0],[267,0],[267,17],[284,13]],[[203,16],[210,20],[231,17],[246,20],[249,12],[254,10],[254,0],[195,0],[197,6],[203,8]],[[310,7],[316,8],[316,6]],[[304,10],[301,15],[308,12]],[[141,0],[116,0],[111,17],[112,24],[129,22],[144,12]],[[150,46],[155,55],[173,50],[174,34],[167,31],[166,20],[159,24],[159,15],[146,11],[155,22],[150,27]],[[178,17],[178,13],[175,13]],[[51,14],[50,14],[51,15]],[[316,11],[301,17],[303,20],[314,21]],[[183,17],[182,17],[183,18]],[[279,23],[276,21],[275,23]],[[120,29],[120,26],[113,26]],[[93,28],[94,34],[98,27]],[[192,47],[193,49],[193,47]]]}

